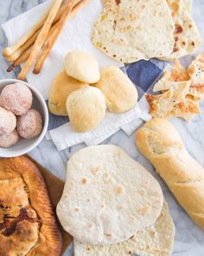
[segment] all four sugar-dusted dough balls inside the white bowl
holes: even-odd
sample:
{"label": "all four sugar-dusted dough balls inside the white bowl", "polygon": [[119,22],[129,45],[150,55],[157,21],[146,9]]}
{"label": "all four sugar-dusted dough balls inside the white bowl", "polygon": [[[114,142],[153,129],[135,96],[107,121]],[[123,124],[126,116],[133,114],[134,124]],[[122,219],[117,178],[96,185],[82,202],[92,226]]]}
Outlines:
{"label": "all four sugar-dusted dough balls inside the white bowl", "polygon": [[6,85],[0,95],[0,147],[10,148],[20,136],[31,139],[41,134],[41,114],[30,109],[33,95],[24,83]]}

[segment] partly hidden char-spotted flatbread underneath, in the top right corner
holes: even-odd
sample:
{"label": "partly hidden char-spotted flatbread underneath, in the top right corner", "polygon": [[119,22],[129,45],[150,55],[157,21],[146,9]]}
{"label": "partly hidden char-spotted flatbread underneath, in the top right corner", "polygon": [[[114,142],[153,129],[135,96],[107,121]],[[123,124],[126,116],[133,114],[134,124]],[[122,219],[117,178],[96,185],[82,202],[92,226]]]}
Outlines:
{"label": "partly hidden char-spotted flatbread underneath, in the top right corner", "polygon": [[194,52],[201,45],[201,36],[183,0],[167,0],[175,23],[175,46],[169,56],[161,59],[169,61]]}

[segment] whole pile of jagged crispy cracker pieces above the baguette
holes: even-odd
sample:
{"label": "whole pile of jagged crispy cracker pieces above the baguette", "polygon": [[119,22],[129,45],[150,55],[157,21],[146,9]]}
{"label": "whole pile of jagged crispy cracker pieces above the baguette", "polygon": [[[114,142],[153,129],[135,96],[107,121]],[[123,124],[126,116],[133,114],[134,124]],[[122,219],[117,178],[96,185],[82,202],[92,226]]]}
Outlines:
{"label": "whole pile of jagged crispy cracker pieces above the baguette", "polygon": [[164,72],[156,82],[154,92],[159,95],[146,95],[153,117],[182,117],[190,121],[200,114],[199,102],[204,98],[204,52],[197,56],[188,69],[175,59],[172,72]]}

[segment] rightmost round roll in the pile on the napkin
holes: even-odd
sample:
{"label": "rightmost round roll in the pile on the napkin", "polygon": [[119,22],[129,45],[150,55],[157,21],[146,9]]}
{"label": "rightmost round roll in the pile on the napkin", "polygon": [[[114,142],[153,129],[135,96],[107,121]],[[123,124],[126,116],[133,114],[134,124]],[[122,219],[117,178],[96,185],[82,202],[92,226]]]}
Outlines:
{"label": "rightmost round roll in the pile on the napkin", "polygon": [[111,112],[125,112],[137,103],[137,89],[121,69],[108,66],[100,70],[100,80],[95,84],[105,95]]}

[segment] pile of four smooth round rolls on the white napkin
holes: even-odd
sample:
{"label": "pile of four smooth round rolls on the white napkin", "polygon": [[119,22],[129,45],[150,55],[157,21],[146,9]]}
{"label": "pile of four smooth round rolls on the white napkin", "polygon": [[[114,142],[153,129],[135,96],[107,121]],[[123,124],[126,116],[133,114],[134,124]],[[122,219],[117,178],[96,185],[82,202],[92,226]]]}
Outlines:
{"label": "pile of four smooth round rolls on the white napkin", "polygon": [[99,70],[89,54],[73,50],[64,60],[49,92],[48,108],[54,115],[68,116],[75,131],[96,128],[105,117],[105,109],[122,113],[137,103],[137,89],[117,67]]}

